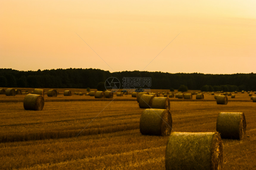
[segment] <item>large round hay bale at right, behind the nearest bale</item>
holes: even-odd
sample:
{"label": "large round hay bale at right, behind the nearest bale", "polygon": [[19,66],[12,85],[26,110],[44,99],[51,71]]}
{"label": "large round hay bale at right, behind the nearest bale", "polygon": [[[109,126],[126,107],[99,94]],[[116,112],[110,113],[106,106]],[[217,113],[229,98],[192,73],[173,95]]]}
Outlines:
{"label": "large round hay bale at right, behind the nearest bale", "polygon": [[220,112],[216,131],[221,138],[242,140],[246,132],[246,120],[242,112]]}

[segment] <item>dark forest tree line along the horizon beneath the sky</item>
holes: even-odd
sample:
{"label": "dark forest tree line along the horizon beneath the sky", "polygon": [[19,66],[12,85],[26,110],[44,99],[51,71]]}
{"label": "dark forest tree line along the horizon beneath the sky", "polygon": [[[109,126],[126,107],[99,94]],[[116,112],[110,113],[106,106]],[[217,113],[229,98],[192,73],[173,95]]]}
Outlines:
{"label": "dark forest tree line along the horizon beneath the sky", "polygon": [[121,84],[124,77],[151,78],[150,84],[141,88],[178,89],[185,85],[189,90],[202,91],[256,91],[256,74],[202,74],[167,73],[147,71],[113,72],[101,69],[51,69],[18,71],[0,69],[0,87],[13,88],[97,88],[109,77],[116,77]]}

